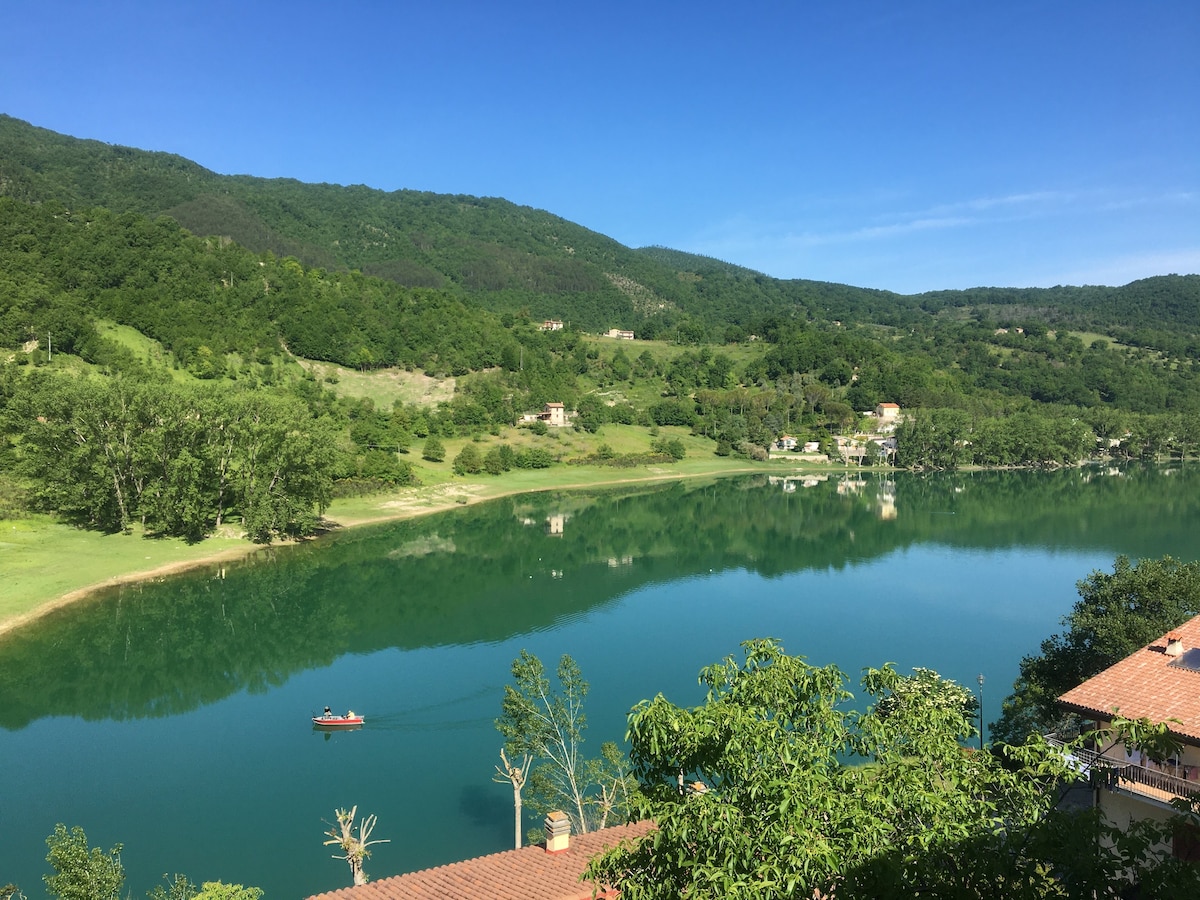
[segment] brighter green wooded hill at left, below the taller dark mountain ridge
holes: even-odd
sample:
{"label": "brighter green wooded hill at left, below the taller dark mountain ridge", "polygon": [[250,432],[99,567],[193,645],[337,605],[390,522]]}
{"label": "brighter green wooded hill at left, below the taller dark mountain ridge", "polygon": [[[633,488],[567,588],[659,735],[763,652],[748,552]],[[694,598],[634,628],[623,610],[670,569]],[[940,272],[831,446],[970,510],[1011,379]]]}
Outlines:
{"label": "brighter green wooded hill at left, below the taller dark mountain ridge", "polygon": [[0,198],[0,334],[94,344],[89,319],[161,341],[200,378],[226,354],[296,355],[458,373],[494,366],[512,338],[455,294],[403,289],[355,271],[305,269],[173,220]]}

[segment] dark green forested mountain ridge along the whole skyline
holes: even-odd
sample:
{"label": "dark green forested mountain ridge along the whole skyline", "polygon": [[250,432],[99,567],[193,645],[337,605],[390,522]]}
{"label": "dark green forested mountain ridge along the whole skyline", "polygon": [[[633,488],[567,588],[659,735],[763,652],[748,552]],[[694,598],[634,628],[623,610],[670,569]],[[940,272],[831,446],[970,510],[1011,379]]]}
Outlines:
{"label": "dark green forested mountain ridge along the whole skyline", "polygon": [[[198,235],[306,265],[440,288],[496,312],[702,340],[787,320],[906,325],[929,316],[1200,334],[1200,276],[1123,288],[974,288],[900,295],[780,280],[665,247],[634,250],[499,198],[220,175],[181,156],[84,140],[0,115],[0,196],[166,215]],[[1154,343],[1142,335],[1142,343]]]}

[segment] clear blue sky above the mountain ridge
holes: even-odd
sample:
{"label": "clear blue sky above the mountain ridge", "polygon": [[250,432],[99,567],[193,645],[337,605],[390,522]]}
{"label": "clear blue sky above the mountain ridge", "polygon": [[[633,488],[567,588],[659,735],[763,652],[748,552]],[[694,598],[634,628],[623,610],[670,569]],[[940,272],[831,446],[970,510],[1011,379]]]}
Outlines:
{"label": "clear blue sky above the mountain ridge", "polygon": [[904,293],[1200,272],[1200,2],[8,0],[0,112]]}

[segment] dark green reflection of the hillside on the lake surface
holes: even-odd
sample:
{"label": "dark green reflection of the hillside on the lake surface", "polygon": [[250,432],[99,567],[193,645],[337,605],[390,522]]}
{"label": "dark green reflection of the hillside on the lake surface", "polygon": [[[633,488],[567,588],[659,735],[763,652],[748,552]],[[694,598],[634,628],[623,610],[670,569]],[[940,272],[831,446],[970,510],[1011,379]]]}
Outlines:
{"label": "dark green reflection of the hillside on the lake surface", "polygon": [[0,724],[185,712],[344,653],[503,641],[710,571],[838,570],[925,542],[1163,556],[1200,527],[1192,470],[866,473],[523,496],[115,589],[0,643]]}

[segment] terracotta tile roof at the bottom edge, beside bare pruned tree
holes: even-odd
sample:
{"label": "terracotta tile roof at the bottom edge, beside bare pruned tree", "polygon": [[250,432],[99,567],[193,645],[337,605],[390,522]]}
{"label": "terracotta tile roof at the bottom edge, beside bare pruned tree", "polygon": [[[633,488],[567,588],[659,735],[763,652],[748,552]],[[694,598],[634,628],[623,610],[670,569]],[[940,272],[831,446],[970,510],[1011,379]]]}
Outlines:
{"label": "terracotta tile roof at the bottom edge, beside bare pruned tree", "polygon": [[572,834],[570,847],[560,853],[547,853],[539,844],[330,890],[308,900],[592,900],[592,882],[580,880],[588,859],[646,834],[652,824],[634,822]]}

